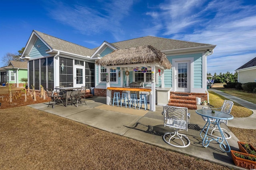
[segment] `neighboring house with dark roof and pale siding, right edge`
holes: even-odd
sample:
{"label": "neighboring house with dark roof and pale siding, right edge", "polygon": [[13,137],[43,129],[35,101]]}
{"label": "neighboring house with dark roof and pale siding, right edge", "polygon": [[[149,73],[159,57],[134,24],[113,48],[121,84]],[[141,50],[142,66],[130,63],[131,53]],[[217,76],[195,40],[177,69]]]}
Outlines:
{"label": "neighboring house with dark roof and pale siding, right edge", "polygon": [[256,82],[256,57],[235,70],[239,83]]}

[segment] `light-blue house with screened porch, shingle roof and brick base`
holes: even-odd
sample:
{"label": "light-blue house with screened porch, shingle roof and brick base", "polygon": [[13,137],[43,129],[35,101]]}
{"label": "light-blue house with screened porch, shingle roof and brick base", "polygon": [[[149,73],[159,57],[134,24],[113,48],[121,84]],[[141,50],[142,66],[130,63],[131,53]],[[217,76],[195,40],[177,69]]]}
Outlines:
{"label": "light-blue house with screened porch, shingle roof and brick base", "polygon": [[[146,52],[142,55],[150,56],[150,53],[160,51],[161,56],[165,56],[162,59],[170,62],[172,67],[155,59],[137,61],[141,57],[138,56],[139,50],[144,47]],[[123,88],[133,82],[141,82],[144,88],[152,89],[152,95],[149,94],[150,98],[155,97],[151,98],[152,103],[159,103],[157,96],[163,93],[165,102],[161,104],[188,106],[192,100],[196,105],[195,97],[207,99],[207,56],[213,53],[215,47],[146,36],[116,43],[104,41],[99,47],[88,49],[33,30],[21,58],[28,59],[28,84],[34,84],[38,90],[40,85],[53,89],[56,86],[86,86],[94,88],[96,96],[111,97],[107,88]],[[127,54],[120,55],[120,51],[124,53],[125,49],[130,53],[130,59]],[[108,57],[112,53],[130,62],[118,63],[118,59]],[[108,63],[95,64],[104,57],[108,57]],[[170,95],[166,97],[166,94]],[[187,104],[182,105],[180,99],[186,100]],[[151,109],[154,111],[154,106]]]}

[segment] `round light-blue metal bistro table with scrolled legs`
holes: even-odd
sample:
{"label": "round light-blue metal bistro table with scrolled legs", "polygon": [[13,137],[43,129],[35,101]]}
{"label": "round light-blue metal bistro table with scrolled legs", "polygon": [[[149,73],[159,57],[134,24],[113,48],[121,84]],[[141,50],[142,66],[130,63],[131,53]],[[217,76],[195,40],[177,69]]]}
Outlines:
{"label": "round light-blue metal bistro table with scrolled legs", "polygon": [[[212,113],[211,109],[197,109],[196,113],[198,115],[207,117],[207,122],[204,125],[204,127],[202,128],[201,132],[200,132],[200,136],[203,139],[202,145],[203,147],[208,147],[211,141],[216,141],[220,144],[220,149],[222,149],[224,152],[230,152],[230,146],[228,144],[228,141],[226,140],[222,129],[220,128],[220,120],[230,120],[233,119],[234,117],[228,113],[224,113],[222,111],[216,111],[214,110],[214,113]],[[210,121],[210,118],[212,119],[216,119],[216,121]],[[220,134],[221,137],[214,137],[212,135],[208,135],[208,129],[210,128],[210,123],[217,125],[219,130],[220,130]],[[207,129],[205,131],[205,134],[202,136],[202,132],[204,131],[204,128],[207,126]],[[226,142],[227,146],[228,146],[228,150],[226,149],[226,145],[224,145],[224,141]],[[224,147],[224,148],[223,148]]]}

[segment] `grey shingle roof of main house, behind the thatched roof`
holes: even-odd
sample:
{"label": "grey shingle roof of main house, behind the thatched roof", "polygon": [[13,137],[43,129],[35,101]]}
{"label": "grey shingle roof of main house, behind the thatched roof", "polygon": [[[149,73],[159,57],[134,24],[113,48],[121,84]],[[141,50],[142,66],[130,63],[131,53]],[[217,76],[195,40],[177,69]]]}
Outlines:
{"label": "grey shingle roof of main house, behind the thatched roof", "polygon": [[118,49],[127,49],[131,47],[139,47],[144,45],[152,45],[154,48],[164,51],[164,50],[174,50],[174,49],[185,49],[191,47],[204,47],[209,46],[211,44],[204,44],[204,43],[194,43],[189,41],[180,41],[174,39],[167,39],[161,37],[140,37],[135,39],[130,39],[126,41],[120,41],[116,43],[111,43]]}

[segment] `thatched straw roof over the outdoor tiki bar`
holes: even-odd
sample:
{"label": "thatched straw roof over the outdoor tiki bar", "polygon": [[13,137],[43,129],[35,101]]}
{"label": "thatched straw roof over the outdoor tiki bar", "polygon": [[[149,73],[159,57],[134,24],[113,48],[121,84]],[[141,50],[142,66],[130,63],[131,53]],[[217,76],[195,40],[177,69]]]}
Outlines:
{"label": "thatched straw roof over the outdoor tiki bar", "polygon": [[95,62],[96,65],[102,66],[142,63],[160,64],[166,69],[172,67],[172,64],[168,61],[166,55],[151,45],[132,47],[129,49],[118,49]]}

